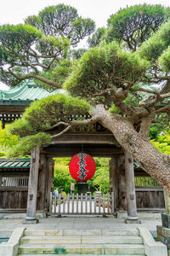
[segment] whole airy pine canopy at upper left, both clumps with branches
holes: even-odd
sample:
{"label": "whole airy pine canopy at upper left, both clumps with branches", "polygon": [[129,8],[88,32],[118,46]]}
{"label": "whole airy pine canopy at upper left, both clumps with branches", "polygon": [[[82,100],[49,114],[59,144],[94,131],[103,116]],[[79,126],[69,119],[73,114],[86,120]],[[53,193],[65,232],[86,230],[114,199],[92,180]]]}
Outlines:
{"label": "whole airy pine canopy at upper left, both clumps with branches", "polygon": [[46,88],[59,88],[58,73],[55,78],[52,75],[54,68],[71,58],[71,45],[94,32],[94,26],[93,20],[82,19],[77,9],[64,4],[28,17],[25,25],[0,26],[0,80],[14,86],[24,79],[36,79],[39,86],[46,83]]}

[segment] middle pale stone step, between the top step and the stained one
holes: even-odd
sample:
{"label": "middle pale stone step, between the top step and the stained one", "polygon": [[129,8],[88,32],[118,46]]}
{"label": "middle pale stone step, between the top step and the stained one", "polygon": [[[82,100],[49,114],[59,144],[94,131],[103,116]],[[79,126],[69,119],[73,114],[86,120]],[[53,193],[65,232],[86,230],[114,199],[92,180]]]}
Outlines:
{"label": "middle pale stone step, between the top step and the stained one", "polygon": [[24,236],[21,244],[55,243],[55,244],[142,244],[139,236]]}

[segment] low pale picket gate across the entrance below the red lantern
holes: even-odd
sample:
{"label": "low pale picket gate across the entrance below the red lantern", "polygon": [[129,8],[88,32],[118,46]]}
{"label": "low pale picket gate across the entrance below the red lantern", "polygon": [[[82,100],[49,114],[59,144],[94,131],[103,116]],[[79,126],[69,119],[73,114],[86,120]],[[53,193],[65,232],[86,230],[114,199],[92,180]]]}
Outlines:
{"label": "low pale picket gate across the entrance below the red lantern", "polygon": [[113,193],[50,195],[51,215],[111,215],[114,213]]}

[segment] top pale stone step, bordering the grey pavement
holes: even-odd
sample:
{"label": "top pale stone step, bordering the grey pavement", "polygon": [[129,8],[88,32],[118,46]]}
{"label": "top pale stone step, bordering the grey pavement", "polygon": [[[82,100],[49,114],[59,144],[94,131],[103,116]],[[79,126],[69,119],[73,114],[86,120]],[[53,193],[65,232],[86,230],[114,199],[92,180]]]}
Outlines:
{"label": "top pale stone step, bordering the grey pavement", "polygon": [[26,230],[25,236],[139,236],[139,230]]}

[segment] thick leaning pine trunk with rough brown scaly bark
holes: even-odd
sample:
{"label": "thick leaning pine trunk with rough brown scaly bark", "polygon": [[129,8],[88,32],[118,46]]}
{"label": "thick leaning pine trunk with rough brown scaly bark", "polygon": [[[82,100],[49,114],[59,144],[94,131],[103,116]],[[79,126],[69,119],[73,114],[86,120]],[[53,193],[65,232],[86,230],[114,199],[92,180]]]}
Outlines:
{"label": "thick leaning pine trunk with rough brown scaly bark", "polygon": [[155,178],[170,195],[170,156],[159,152],[149,139],[140,137],[128,119],[120,115],[111,116],[102,105],[94,108],[92,114],[100,117],[100,124],[114,134],[122,148],[127,150],[139,166]]}

